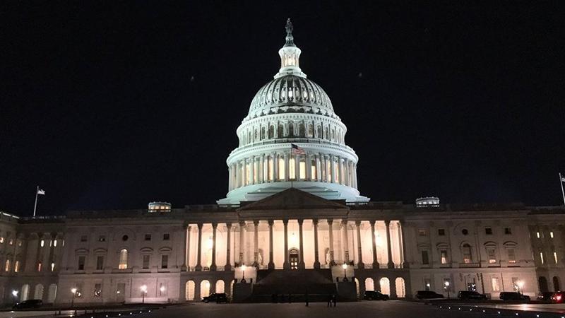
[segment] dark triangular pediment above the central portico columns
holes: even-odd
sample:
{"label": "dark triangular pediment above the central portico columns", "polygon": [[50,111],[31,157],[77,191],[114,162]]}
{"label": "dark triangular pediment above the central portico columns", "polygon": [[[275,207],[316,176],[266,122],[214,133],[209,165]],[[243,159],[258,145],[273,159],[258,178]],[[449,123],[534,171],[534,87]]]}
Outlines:
{"label": "dark triangular pediment above the central portico columns", "polygon": [[314,194],[309,194],[296,188],[286,189],[265,199],[253,203],[244,204],[237,211],[254,210],[300,210],[300,209],[348,209],[345,201],[332,201],[323,199]]}

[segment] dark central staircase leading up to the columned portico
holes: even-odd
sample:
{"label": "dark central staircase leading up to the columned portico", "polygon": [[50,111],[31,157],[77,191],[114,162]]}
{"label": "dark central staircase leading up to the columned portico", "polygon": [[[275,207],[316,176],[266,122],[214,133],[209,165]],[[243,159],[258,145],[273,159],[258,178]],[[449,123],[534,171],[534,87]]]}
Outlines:
{"label": "dark central staircase leading up to the columned portico", "polygon": [[[329,269],[260,270],[247,302],[325,302],[337,294]],[[290,295],[290,296],[289,296]]]}

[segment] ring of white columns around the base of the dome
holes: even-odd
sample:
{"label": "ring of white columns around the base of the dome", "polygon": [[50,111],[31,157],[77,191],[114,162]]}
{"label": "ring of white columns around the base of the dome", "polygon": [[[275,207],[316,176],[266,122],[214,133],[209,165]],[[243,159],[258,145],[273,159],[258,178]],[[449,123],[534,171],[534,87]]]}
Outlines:
{"label": "ring of white columns around the base of the dome", "polygon": [[[279,161],[281,160],[284,162],[284,167],[280,167]],[[290,160],[294,161],[294,176],[290,175]],[[312,160],[314,160],[314,165],[312,165]],[[300,177],[301,162],[304,162],[306,170],[302,178]],[[283,169],[284,175],[280,169]],[[357,189],[356,163],[347,158],[323,153],[308,153],[307,155],[291,155],[290,152],[263,153],[232,163],[228,170],[230,175],[228,191],[249,184],[290,181],[291,179],[345,184]]]}

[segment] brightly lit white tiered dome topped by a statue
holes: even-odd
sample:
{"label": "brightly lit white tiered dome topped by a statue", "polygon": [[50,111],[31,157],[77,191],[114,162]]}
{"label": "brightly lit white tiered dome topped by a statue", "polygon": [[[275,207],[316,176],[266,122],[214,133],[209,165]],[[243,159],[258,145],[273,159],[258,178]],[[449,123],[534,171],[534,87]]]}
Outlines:
{"label": "brightly lit white tiered dome topped by a statue", "polygon": [[228,192],[220,205],[257,201],[296,188],[325,199],[367,202],[357,190],[357,161],[345,144],[347,127],[326,92],[299,67],[301,50],[287,21],[280,69],[258,90],[237,127],[230,153]]}

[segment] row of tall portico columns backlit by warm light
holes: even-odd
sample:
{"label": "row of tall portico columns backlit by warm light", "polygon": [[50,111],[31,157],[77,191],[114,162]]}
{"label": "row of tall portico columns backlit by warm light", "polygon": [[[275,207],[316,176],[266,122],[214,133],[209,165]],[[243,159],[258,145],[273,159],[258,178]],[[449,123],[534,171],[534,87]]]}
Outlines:
{"label": "row of tall portico columns backlit by warm light", "polygon": [[[283,220],[283,226],[284,226],[284,246],[285,246],[285,259],[284,259],[284,263],[283,263],[283,269],[290,269],[290,262],[289,262],[289,255],[288,255],[288,221],[287,219]],[[345,242],[348,242],[347,239],[347,230],[346,230],[346,225],[347,225],[347,220],[343,220],[343,225],[344,225],[344,230],[343,230],[343,235],[344,235],[344,239]],[[358,259],[358,263],[357,263],[357,268],[358,269],[364,269],[364,261],[363,261],[363,255],[362,255],[362,245],[361,245],[361,220],[356,220],[355,221],[355,230],[357,232],[357,259]],[[390,220],[385,220],[385,226],[386,226],[386,252],[388,255],[388,263],[386,264],[386,267],[388,269],[393,269],[394,268],[394,262],[393,262],[393,257],[392,257],[392,247],[391,247],[391,231],[390,231],[390,225],[391,225],[391,221]],[[320,269],[320,260],[319,260],[319,246],[318,246],[318,223],[319,220],[318,219],[312,219],[312,223],[314,224],[314,269]],[[327,223],[328,223],[328,228],[329,228],[329,254],[330,254],[330,266],[335,265],[335,261],[334,261],[334,251],[333,251],[333,219],[329,218],[327,219]],[[253,221],[254,224],[254,266],[258,266],[258,225],[259,225],[259,220],[254,220]],[[306,266],[304,264],[304,235],[303,235],[303,231],[302,231],[302,225],[304,224],[304,219],[299,219],[298,220],[298,226],[299,226],[299,264],[298,264],[298,268],[299,269],[304,269]],[[377,259],[377,254],[376,254],[376,237],[375,237],[375,224],[376,224],[376,220],[369,220],[369,224],[371,225],[371,248],[372,248],[372,254],[373,254],[373,259],[372,259],[372,265],[374,269],[378,269],[379,268],[379,260]],[[240,221],[239,223],[240,225],[240,231],[241,234],[239,235],[239,264],[243,264],[244,261],[244,235],[243,235],[243,231],[245,230],[245,221]],[[268,226],[269,226],[269,262],[268,262],[268,269],[275,269],[275,262],[273,260],[273,225],[274,225],[274,220],[268,220]],[[400,225],[400,224],[399,224]],[[196,252],[196,267],[195,270],[196,271],[202,271],[202,263],[201,263],[201,254],[202,254],[202,227],[203,227],[203,223],[198,223],[198,225],[196,225],[198,227],[198,245],[197,245],[197,252]],[[212,264],[210,265],[210,271],[216,271],[218,269],[218,266],[216,265],[216,230],[218,228],[218,223],[212,223]],[[186,240],[184,241],[184,249],[186,251],[185,257],[184,257],[184,264],[182,265],[183,269],[187,269],[187,265],[186,265],[186,261],[188,260],[188,256],[189,256],[189,245],[190,245],[190,235],[188,235],[188,233],[190,232],[191,229],[191,225],[187,225],[187,230],[185,231],[185,235],[186,235]],[[232,224],[231,223],[227,223],[227,250],[226,250],[226,266],[225,266],[225,271],[229,271],[231,270],[231,266],[230,266],[230,245],[231,245],[231,232],[232,229]],[[405,249],[405,238],[403,235],[403,228],[400,225],[400,231],[399,231],[399,235],[400,235],[400,257],[401,257],[401,262],[403,264],[404,268],[408,268],[408,262],[406,261],[406,249]],[[345,261],[349,261],[349,247],[347,244],[345,244]]]}

